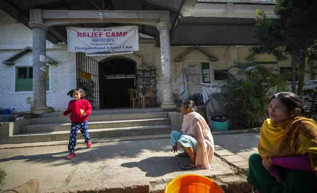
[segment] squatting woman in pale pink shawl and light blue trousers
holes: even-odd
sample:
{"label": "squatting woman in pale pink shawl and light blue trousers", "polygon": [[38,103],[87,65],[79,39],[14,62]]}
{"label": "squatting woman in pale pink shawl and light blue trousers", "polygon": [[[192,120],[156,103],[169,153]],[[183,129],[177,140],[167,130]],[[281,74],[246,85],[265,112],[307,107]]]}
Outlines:
{"label": "squatting woman in pale pink shawl and light blue trousers", "polygon": [[180,167],[191,169],[193,167],[210,169],[214,156],[214,139],[205,119],[196,112],[195,104],[191,100],[185,100],[181,105],[181,112],[184,115],[182,131],[172,131],[172,151],[177,152],[183,148],[185,152],[178,154],[178,157],[190,157]]}

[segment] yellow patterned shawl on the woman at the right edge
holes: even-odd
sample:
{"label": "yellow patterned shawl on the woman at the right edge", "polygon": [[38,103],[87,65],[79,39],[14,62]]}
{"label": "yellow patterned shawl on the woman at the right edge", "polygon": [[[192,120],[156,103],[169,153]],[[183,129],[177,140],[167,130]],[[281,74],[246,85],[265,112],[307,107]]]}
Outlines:
{"label": "yellow patterned shawl on the woman at the right edge", "polygon": [[304,117],[282,124],[267,119],[262,125],[257,149],[263,159],[309,153],[312,168],[317,171],[317,124]]}

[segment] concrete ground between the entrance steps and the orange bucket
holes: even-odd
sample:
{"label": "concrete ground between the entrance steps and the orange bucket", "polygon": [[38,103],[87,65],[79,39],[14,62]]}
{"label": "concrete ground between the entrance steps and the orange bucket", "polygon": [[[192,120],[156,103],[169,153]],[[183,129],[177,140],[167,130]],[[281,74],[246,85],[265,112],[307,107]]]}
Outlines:
{"label": "concrete ground between the entrance steps and the orange bucket", "polygon": [[[239,138],[235,136],[217,135],[215,142],[224,140],[233,145],[233,139]],[[187,159],[174,157],[170,150],[169,138],[95,143],[91,149],[78,144],[71,161],[64,160],[66,145],[1,149],[0,167],[9,174],[3,190],[31,179],[39,180],[40,192],[58,192],[142,179],[159,182],[190,173],[213,176],[236,172],[216,156],[211,170],[182,170],[179,166]]]}

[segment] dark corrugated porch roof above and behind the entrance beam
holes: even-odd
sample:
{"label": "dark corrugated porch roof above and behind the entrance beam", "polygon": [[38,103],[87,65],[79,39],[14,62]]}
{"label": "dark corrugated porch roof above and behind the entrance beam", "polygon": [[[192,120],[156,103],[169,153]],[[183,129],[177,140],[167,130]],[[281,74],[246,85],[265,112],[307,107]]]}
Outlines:
{"label": "dark corrugated porch roof above and behind the entrance beam", "polygon": [[[197,0],[0,0],[0,9],[8,13],[11,17],[19,20],[24,25],[28,26],[30,21],[30,9],[70,9],[70,10],[168,10],[170,11],[170,22],[175,24],[176,18],[179,13],[190,12]],[[183,7],[183,8],[182,8]],[[23,18],[23,19],[21,19]],[[107,27],[114,24],[84,24],[84,27]],[[130,25],[130,24],[129,24]],[[76,25],[81,27],[81,25]],[[54,29],[60,32],[64,37],[64,26],[54,27]],[[159,36],[159,32],[156,28],[151,26],[140,26],[142,32],[151,36]],[[56,37],[50,33],[47,35],[48,40],[53,43],[58,43]]]}

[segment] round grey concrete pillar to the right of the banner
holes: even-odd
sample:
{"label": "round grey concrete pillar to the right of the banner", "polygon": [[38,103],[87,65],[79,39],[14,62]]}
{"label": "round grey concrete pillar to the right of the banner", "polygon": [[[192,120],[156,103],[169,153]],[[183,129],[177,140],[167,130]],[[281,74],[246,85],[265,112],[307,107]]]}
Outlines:
{"label": "round grey concrete pillar to the right of the banner", "polygon": [[172,64],[169,41],[169,30],[171,27],[172,25],[169,22],[160,22],[157,25],[160,39],[160,61],[162,65],[163,102],[160,106],[162,110],[176,108],[172,92]]}

